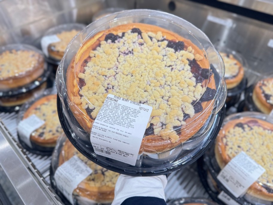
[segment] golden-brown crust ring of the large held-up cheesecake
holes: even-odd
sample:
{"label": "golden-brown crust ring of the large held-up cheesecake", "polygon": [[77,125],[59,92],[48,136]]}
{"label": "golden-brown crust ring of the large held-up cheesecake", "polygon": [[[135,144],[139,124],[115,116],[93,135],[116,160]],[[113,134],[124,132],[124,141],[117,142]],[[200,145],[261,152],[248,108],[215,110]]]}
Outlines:
{"label": "golden-brown crust ring of the large held-up cheesecake", "polygon": [[[90,58],[90,55],[92,55],[90,54],[92,53],[92,50],[94,50],[98,45],[100,45],[101,41],[104,41],[104,38],[107,34],[113,33],[117,35],[121,32],[126,32],[133,28],[139,28],[142,31],[142,33],[153,32],[154,34],[157,34],[157,32],[160,31],[162,33],[162,36],[166,37],[166,40],[172,40],[175,42],[183,41],[184,47],[187,50],[190,50],[192,52],[194,51],[194,59],[196,59],[196,62],[198,63],[198,65],[201,68],[210,68],[209,62],[207,58],[204,56],[203,52],[200,49],[198,49],[198,47],[195,46],[190,40],[185,39],[179,36],[178,34],[172,33],[171,31],[168,31],[166,29],[163,29],[154,25],[132,23],[132,24],[120,25],[120,26],[111,28],[109,30],[101,31],[95,34],[94,37],[89,39],[79,49],[77,53],[77,59],[73,58],[66,73],[66,76],[67,76],[66,88],[67,88],[69,100],[71,101],[70,108],[75,118],[78,120],[81,126],[88,133],[90,133],[91,126],[94,120],[88,116],[87,111],[85,109],[81,108],[82,102],[80,101],[80,96],[79,96],[80,89],[78,87],[78,82],[80,79],[78,75],[84,72],[84,61],[87,58]],[[202,82],[202,85],[203,86],[207,85],[208,88],[215,89],[216,85],[214,80],[214,74],[212,74],[209,77],[209,81],[204,80]],[[181,142],[186,141],[204,125],[207,118],[211,114],[212,104],[213,104],[212,100],[202,102],[201,105],[204,108],[204,110],[201,113],[194,114],[191,118],[185,121],[186,124],[190,124],[193,120],[197,121],[198,123],[194,124],[193,126],[183,126],[183,128],[180,130],[180,133],[178,134],[179,136],[176,133],[171,134],[171,135],[177,136],[175,140],[174,138],[162,137],[162,135],[159,135],[159,134],[148,135],[148,136],[145,136],[145,138],[143,138],[142,146],[140,150],[143,150],[149,153],[160,153],[166,150],[170,150],[173,147],[176,147],[178,144],[181,144]],[[156,112],[156,111],[153,110],[153,112]],[[153,112],[151,116],[153,116],[154,114]],[[144,145],[144,148],[143,148],[143,145]]]}

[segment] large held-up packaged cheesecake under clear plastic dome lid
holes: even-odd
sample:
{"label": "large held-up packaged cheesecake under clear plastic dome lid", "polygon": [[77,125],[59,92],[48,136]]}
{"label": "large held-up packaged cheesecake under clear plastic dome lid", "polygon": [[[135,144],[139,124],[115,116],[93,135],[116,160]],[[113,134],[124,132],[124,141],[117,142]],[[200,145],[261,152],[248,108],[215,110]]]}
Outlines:
{"label": "large held-up packaged cheesecake under clear plastic dome lid", "polygon": [[115,13],[81,31],[57,89],[77,148],[129,174],[195,158],[226,97],[224,66],[205,34],[151,10]]}

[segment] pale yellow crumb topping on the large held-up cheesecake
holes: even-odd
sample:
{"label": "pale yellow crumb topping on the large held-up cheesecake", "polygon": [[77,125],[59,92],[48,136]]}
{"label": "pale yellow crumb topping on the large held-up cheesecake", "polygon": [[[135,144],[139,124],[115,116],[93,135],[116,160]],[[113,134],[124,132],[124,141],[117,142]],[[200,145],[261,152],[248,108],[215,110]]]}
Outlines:
{"label": "pale yellow crumb topping on the large held-up cheesecake", "polygon": [[[132,33],[127,31],[113,43],[101,41],[100,46],[90,52],[91,60],[78,77],[86,85],[81,88],[83,97],[74,98],[92,110],[92,118],[98,114],[107,94],[113,94],[153,107],[147,127],[153,124],[154,134],[173,143],[179,136],[175,126],[185,125],[183,113],[193,117],[191,103],[205,91],[191,73],[189,60],[202,60],[189,46],[175,52],[167,47],[168,41],[157,33]],[[88,105],[86,98],[91,104]]]}

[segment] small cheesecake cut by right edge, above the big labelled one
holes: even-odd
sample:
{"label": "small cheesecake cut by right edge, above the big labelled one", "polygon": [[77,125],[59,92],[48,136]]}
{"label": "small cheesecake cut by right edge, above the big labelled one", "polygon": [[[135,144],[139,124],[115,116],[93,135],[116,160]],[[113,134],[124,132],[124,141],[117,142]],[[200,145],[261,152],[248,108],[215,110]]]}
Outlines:
{"label": "small cheesecake cut by right edge, above the big labelled one", "polygon": [[273,109],[273,78],[258,81],[254,87],[252,98],[260,111],[269,114]]}

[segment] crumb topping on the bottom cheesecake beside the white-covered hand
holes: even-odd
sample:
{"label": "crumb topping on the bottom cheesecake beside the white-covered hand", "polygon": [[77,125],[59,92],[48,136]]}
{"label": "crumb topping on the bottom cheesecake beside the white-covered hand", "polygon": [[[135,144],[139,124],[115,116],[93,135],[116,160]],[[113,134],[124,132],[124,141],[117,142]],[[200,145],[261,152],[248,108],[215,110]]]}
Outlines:
{"label": "crumb topping on the bottom cheesecake beside the white-covered hand", "polygon": [[87,159],[83,156],[78,150],[75,151],[75,155],[77,155],[83,162],[85,162],[91,169],[92,173],[85,178],[85,180],[89,183],[90,186],[101,187],[115,187],[116,181],[118,180],[119,173],[110,171],[106,168],[103,168],[94,162]]}

